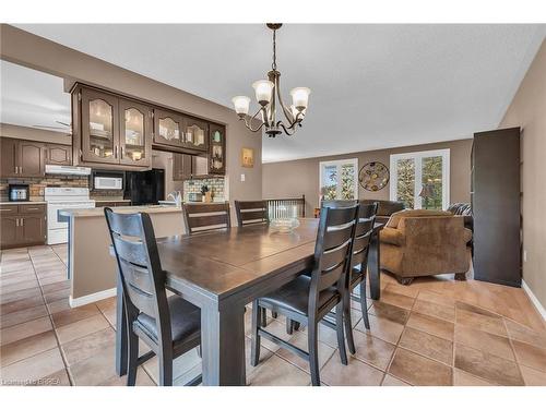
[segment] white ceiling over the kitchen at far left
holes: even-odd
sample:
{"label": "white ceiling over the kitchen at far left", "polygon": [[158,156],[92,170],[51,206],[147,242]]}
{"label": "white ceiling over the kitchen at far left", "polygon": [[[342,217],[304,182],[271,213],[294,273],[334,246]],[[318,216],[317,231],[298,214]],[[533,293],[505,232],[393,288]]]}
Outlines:
{"label": "white ceiling over the kitchen at far left", "polygon": [[62,79],[0,60],[0,122],[68,132],[56,122],[70,123],[70,95]]}

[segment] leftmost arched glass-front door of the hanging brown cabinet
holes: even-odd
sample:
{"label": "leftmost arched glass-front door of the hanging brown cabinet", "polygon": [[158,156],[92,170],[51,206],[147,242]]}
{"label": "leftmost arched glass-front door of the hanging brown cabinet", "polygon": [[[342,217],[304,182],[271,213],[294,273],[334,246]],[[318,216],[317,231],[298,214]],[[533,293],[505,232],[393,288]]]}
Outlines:
{"label": "leftmost arched glass-front door of the hanging brown cabinet", "polygon": [[118,98],[82,89],[82,156],[84,160],[119,163]]}

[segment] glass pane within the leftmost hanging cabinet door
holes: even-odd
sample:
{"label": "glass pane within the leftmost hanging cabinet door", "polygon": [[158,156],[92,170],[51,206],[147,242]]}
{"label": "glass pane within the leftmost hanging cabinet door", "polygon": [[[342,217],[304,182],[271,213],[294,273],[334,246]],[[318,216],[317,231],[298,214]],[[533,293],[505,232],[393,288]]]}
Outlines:
{"label": "glass pane within the leftmost hanging cabinet door", "polygon": [[102,158],[114,155],[114,107],[103,99],[90,101],[90,149]]}

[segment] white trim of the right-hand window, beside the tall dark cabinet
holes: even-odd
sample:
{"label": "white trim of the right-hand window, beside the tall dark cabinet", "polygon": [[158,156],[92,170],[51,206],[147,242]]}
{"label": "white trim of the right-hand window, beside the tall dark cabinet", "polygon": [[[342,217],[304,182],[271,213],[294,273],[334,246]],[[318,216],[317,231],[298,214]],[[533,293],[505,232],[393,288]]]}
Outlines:
{"label": "white trim of the right-hand window, beside the tall dark cabinet", "polygon": [[423,158],[431,156],[442,157],[442,209],[446,210],[450,204],[450,148],[435,149],[435,151],[420,151],[407,152],[403,154],[391,155],[390,173],[390,200],[396,201],[396,185],[397,185],[397,169],[396,161],[399,159],[414,159],[415,160],[415,192],[414,192],[414,208],[423,208],[423,201],[419,196],[423,188]]}

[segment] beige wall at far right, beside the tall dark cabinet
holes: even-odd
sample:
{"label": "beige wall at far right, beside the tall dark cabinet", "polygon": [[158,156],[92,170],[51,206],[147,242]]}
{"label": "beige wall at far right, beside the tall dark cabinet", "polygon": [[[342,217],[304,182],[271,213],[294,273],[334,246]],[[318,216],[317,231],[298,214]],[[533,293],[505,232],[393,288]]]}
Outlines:
{"label": "beige wall at far right, beside the tall dark cabinet", "polygon": [[521,127],[523,279],[546,308],[546,40],[499,128]]}

